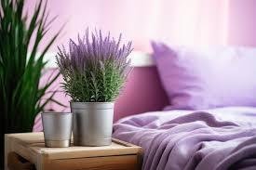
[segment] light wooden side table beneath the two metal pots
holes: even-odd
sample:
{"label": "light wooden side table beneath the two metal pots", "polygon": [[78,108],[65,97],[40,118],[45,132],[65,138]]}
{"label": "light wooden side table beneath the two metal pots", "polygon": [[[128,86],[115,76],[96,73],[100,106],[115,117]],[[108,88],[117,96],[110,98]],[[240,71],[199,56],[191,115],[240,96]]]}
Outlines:
{"label": "light wooden side table beneath the two metal pots", "polygon": [[37,170],[137,170],[141,169],[141,147],[113,138],[111,146],[45,148],[43,133],[8,134],[7,155],[15,151],[34,163]]}

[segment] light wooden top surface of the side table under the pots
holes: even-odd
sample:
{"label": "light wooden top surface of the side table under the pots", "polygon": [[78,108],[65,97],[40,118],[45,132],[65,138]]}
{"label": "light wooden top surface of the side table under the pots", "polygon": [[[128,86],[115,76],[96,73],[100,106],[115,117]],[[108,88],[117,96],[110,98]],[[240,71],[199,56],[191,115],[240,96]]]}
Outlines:
{"label": "light wooden top surface of the side table under the pots", "polygon": [[71,159],[98,156],[128,155],[137,154],[141,147],[129,144],[113,138],[110,146],[102,147],[80,147],[72,146],[68,148],[46,148],[44,143],[44,134],[40,133],[22,133],[7,134],[7,145],[15,150],[25,159],[34,163],[38,154],[47,155],[48,159]]}

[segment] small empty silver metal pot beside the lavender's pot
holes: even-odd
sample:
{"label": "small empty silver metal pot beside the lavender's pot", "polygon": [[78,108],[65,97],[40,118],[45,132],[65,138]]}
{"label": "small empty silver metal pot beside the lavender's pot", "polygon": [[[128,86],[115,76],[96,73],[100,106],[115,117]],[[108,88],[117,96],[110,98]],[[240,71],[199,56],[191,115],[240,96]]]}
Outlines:
{"label": "small empty silver metal pot beside the lavender's pot", "polygon": [[42,121],[46,147],[70,147],[73,124],[71,112],[44,112]]}

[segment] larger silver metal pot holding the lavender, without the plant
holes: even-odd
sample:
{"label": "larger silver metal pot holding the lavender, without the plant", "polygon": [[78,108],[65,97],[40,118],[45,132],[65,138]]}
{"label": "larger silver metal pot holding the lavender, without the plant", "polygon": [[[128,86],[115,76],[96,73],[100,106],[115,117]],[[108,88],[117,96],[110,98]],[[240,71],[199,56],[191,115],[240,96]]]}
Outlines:
{"label": "larger silver metal pot holding the lavender, without the plant", "polygon": [[71,102],[76,146],[111,145],[114,103]]}

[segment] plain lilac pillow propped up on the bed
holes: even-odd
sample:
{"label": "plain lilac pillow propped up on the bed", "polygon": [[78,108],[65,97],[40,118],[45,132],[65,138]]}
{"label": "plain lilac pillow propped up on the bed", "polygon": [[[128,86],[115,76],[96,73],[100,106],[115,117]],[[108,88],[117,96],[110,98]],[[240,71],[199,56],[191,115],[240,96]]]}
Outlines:
{"label": "plain lilac pillow propped up on the bed", "polygon": [[152,43],[168,95],[165,110],[256,106],[256,49],[169,47]]}

